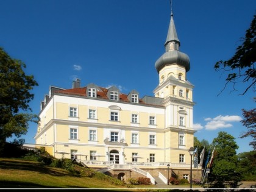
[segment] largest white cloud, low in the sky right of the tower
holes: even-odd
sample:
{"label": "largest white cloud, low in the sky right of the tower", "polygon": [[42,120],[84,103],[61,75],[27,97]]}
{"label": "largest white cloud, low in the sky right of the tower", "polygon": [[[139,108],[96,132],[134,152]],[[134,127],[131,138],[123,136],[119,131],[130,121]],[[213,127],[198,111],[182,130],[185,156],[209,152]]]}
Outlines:
{"label": "largest white cloud, low in the sky right of the tower", "polygon": [[226,116],[216,116],[215,118],[205,118],[205,121],[208,121],[205,125],[206,130],[216,130],[227,127],[232,127],[232,122],[241,121],[241,116],[237,115],[226,115]]}

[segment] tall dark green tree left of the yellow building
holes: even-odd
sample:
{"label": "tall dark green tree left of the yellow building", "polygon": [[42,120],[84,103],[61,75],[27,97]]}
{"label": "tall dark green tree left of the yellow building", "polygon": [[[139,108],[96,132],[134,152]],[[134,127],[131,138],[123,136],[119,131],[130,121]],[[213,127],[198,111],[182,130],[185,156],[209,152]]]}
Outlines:
{"label": "tall dark green tree left of the yellow building", "polygon": [[24,72],[26,65],[20,60],[12,59],[0,48],[0,144],[6,138],[20,137],[27,133],[29,121],[38,121],[32,112],[29,102],[34,98],[30,93],[37,82],[34,76]]}

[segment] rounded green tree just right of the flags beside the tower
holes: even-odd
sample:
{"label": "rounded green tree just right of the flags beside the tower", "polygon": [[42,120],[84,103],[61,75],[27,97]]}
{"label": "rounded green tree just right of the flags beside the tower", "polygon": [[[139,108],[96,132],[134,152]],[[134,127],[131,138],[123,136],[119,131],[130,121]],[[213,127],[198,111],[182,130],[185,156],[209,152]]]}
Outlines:
{"label": "rounded green tree just right of the flags beside the tower", "polygon": [[[223,187],[221,183],[233,181],[233,187],[238,187],[239,177],[234,178],[234,172],[237,172],[238,158],[236,149],[238,145],[235,138],[227,132],[219,132],[218,137],[213,139],[215,146],[215,156],[212,165],[212,178],[215,180],[213,187]],[[221,184],[221,185],[220,185]]]}

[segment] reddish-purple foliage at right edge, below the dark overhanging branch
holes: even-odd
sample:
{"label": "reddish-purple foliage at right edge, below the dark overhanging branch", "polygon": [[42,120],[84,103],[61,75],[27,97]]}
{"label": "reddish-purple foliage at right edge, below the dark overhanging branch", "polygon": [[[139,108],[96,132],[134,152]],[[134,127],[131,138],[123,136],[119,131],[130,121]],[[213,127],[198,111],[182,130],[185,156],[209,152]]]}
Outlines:
{"label": "reddish-purple foliage at right edge, below the dark overhanging branch", "polygon": [[253,141],[249,145],[256,150],[256,108],[251,110],[242,110],[244,119],[241,121],[243,126],[247,127],[247,132],[244,132],[240,138],[252,137]]}

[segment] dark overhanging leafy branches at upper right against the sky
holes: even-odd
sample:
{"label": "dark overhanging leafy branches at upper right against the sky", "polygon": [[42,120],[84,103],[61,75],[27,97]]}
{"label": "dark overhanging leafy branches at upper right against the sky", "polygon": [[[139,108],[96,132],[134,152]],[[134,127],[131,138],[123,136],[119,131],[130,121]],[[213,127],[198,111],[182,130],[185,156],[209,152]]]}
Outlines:
{"label": "dark overhanging leafy branches at upper right against the sky", "polygon": [[[216,71],[227,72],[226,84],[233,84],[233,90],[238,83],[246,83],[245,94],[250,88],[255,90],[256,83],[256,15],[251,22],[249,29],[246,30],[243,43],[236,48],[235,55],[229,60],[216,62],[214,68]],[[222,90],[222,91],[223,91]]]}

